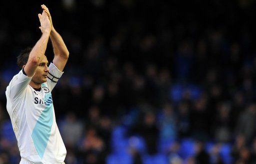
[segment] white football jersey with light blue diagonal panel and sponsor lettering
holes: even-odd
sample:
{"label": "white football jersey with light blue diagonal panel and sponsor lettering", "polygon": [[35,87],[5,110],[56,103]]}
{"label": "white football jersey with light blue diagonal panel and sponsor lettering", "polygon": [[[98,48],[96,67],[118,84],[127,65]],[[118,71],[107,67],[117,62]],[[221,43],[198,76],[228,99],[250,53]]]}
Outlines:
{"label": "white football jersey with light blue diagonal panel and sponsor lettering", "polygon": [[61,77],[53,63],[47,82],[33,89],[22,70],[6,88],[7,111],[17,139],[20,164],[62,164],[66,149],[55,120],[51,91]]}

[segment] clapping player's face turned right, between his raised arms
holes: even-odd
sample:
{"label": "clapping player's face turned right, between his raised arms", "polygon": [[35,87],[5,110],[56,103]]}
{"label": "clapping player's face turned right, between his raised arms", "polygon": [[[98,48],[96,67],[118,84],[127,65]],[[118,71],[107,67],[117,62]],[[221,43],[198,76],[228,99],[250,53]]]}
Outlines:
{"label": "clapping player's face turned right, between his raised arms", "polygon": [[47,75],[49,72],[48,60],[44,55],[39,65],[37,66],[32,81],[36,84],[45,83],[47,81]]}

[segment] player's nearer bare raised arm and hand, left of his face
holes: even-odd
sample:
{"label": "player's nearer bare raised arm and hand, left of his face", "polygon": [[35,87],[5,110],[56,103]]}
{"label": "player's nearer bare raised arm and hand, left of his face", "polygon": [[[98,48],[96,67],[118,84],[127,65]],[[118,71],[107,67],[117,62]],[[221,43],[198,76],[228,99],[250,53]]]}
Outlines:
{"label": "player's nearer bare raised arm and hand, left of his face", "polygon": [[42,14],[38,14],[38,17],[41,25],[39,29],[41,30],[42,35],[32,48],[27,63],[24,66],[24,71],[28,77],[32,77],[34,75],[36,67],[42,60],[51,31],[51,24],[47,13],[43,11]]}

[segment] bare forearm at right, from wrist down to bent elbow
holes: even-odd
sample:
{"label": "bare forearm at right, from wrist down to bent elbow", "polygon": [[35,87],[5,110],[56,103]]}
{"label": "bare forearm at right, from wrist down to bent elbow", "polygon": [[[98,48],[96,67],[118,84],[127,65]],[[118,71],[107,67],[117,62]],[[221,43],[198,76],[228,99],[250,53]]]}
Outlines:
{"label": "bare forearm at right, from wrist down to bent elbow", "polygon": [[53,47],[54,56],[59,56],[64,59],[68,58],[69,52],[62,37],[57,33],[57,31],[52,28],[50,33],[50,40]]}

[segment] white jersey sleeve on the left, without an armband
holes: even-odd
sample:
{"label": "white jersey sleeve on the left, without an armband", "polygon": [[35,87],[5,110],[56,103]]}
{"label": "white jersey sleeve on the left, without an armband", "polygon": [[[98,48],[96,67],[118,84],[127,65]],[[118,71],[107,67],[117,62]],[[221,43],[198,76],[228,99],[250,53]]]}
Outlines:
{"label": "white jersey sleeve on the left, without an armband", "polygon": [[13,76],[6,89],[6,93],[9,95],[9,98],[15,99],[25,94],[26,87],[31,79],[32,78],[26,76],[23,69]]}

